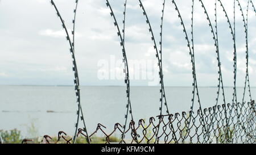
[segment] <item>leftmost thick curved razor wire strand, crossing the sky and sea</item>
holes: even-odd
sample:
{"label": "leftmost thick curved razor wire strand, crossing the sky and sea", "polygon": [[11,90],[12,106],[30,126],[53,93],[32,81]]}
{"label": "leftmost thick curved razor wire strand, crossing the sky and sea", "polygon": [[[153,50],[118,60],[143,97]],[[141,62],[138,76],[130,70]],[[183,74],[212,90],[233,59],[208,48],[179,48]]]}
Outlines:
{"label": "leftmost thick curved razor wire strand, crossing the sky and sea", "polygon": [[[78,1],[76,1],[76,7],[77,7],[77,3]],[[59,17],[61,23],[62,23],[62,26],[65,30],[65,33],[67,35],[67,40],[68,40],[68,43],[69,43],[69,46],[70,46],[70,52],[71,52],[71,55],[72,55],[72,59],[73,59],[73,72],[74,72],[74,76],[75,76],[75,79],[74,79],[74,83],[75,83],[75,93],[76,93],[76,98],[77,98],[77,102],[78,102],[78,110],[77,110],[77,122],[75,124],[75,135],[73,137],[73,143],[75,143],[76,141],[76,133],[77,133],[77,128],[78,128],[78,125],[79,125],[79,118],[80,118],[80,112],[82,113],[82,106],[81,106],[81,103],[80,103],[80,85],[79,85],[79,75],[78,75],[78,70],[77,70],[77,65],[76,65],[76,58],[75,58],[75,51],[74,51],[74,48],[73,48],[73,43],[71,42],[71,39],[69,37],[69,33],[68,33],[68,30],[67,30],[67,27],[65,26],[65,23],[64,23],[64,20],[63,18],[61,17],[60,15],[60,12],[59,10],[57,9],[55,3],[53,2],[53,0],[51,0],[51,4],[52,6],[54,7],[55,11],[57,12],[57,16]],[[76,12],[75,12],[75,16],[76,16]],[[74,28],[75,28],[75,22],[74,22]],[[75,30],[73,30],[75,31]],[[75,34],[75,33],[74,33]],[[74,37],[74,35],[73,35]],[[75,41],[75,40],[73,40]],[[86,130],[86,125],[85,125],[85,120],[84,120],[84,116],[82,115],[81,116],[81,120],[84,124],[84,131],[86,132],[86,135],[88,136],[88,132]],[[90,143],[90,140],[88,139],[88,143]]]}

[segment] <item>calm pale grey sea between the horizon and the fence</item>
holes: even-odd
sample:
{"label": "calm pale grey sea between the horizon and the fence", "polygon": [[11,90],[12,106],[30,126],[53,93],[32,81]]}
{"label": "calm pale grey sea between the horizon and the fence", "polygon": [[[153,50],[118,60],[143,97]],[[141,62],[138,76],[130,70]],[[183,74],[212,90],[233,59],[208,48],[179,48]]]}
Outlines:
{"label": "calm pale grey sea between the horizon and the fence", "polygon": [[[199,91],[203,108],[216,104],[216,87],[199,87]],[[239,101],[242,100],[242,92],[243,88],[238,87]],[[232,93],[232,87],[225,87],[229,103]],[[251,93],[255,94],[256,88],[251,88]],[[172,113],[187,112],[191,106],[192,87],[166,87],[166,96]],[[159,87],[131,87],[135,120],[157,116],[159,99]],[[31,129],[38,136],[54,136],[58,131],[72,135],[77,110],[75,100],[72,86],[0,86],[0,129],[16,128],[24,137],[31,135]],[[81,104],[88,131],[94,131],[98,123],[109,129],[113,129],[117,122],[123,124],[126,102],[125,87],[82,86]]]}

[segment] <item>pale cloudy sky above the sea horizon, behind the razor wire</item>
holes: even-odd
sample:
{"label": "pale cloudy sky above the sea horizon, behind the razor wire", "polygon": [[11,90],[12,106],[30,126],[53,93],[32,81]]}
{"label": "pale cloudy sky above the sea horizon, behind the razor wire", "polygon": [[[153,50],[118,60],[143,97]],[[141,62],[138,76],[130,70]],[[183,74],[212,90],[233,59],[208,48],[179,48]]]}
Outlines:
{"label": "pale cloudy sky above the sea horizon, behind the razor wire", "polygon": [[[124,86],[123,79],[102,79],[102,70],[122,72],[123,66],[104,68],[101,62],[111,64],[122,60],[117,29],[104,0],[79,1],[76,20],[75,55],[81,85]],[[122,28],[123,3],[109,0]],[[214,23],[214,2],[203,1],[209,18]],[[254,4],[256,1],[253,1]],[[72,30],[75,0],[55,0],[69,33]],[[150,20],[156,43],[160,40],[160,17],[163,1],[142,0]],[[176,1],[191,39],[192,1]],[[233,23],[233,1],[223,1],[230,22]],[[224,12],[217,3],[218,41],[224,86],[233,86],[233,41]],[[246,15],[247,1],[241,1]],[[136,78],[138,63],[155,62],[154,44],[148,31],[146,18],[139,1],[127,1],[125,48],[132,86],[148,86],[152,79]],[[216,49],[204,10],[195,1],[194,44],[197,83],[199,86],[217,86],[218,68]],[[256,86],[256,18],[253,8],[248,15],[249,76],[250,85]],[[48,0],[0,1],[0,85],[73,85],[72,60],[68,41],[60,20]],[[246,42],[242,16],[236,6],[237,86],[243,86],[246,72]],[[158,49],[159,49],[158,44]],[[104,64],[104,63],[103,63]],[[118,64],[118,62],[117,62]],[[119,63],[120,64],[120,63]],[[122,64],[122,63],[121,63]],[[154,64],[154,63],[153,63]],[[109,69],[109,70],[108,70]],[[165,86],[191,86],[192,70],[187,42],[180,19],[170,1],[166,1],[163,22],[163,74]],[[151,72],[157,77],[158,70]]]}

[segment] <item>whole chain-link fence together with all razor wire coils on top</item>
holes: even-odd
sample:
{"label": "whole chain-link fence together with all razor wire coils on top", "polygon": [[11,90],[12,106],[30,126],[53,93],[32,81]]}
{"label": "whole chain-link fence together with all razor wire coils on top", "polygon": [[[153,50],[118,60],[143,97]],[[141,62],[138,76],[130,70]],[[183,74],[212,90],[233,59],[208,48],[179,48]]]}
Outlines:
{"label": "whole chain-link fence together with all razor wire coils on top", "polygon": [[[225,91],[224,91],[224,81],[222,78],[222,70],[221,70],[221,61],[220,61],[220,49],[219,49],[219,41],[218,41],[218,21],[217,21],[217,1],[220,3],[222,11],[224,12],[229,29],[231,31],[232,39],[233,39],[233,99],[232,104],[226,104],[225,99]],[[117,35],[120,40],[120,45],[122,49],[122,58],[124,69],[123,73],[125,74],[125,83],[126,83],[126,113],[125,113],[125,123],[123,125],[116,123],[114,125],[114,129],[112,132],[107,132],[106,127],[102,124],[97,124],[96,130],[91,134],[88,133],[85,125],[85,118],[82,112],[81,101],[80,101],[80,83],[79,83],[79,75],[75,58],[75,28],[76,28],[76,15],[77,8],[79,6],[79,1],[75,0],[75,9],[73,10],[73,29],[72,29],[72,39],[69,37],[69,32],[67,27],[65,26],[65,22],[60,15],[57,6],[53,0],[50,1],[51,5],[54,7],[57,17],[60,19],[62,27],[65,31],[65,37],[69,43],[70,52],[72,55],[73,62],[73,73],[74,73],[74,83],[75,83],[75,94],[76,94],[76,102],[78,104],[77,107],[77,120],[75,124],[75,135],[70,137],[67,133],[60,131],[58,132],[57,140],[55,141],[51,136],[44,135],[42,143],[51,144],[51,143],[61,143],[65,142],[67,144],[76,143],[78,137],[83,137],[85,139],[85,143],[93,143],[93,137],[97,134],[103,134],[105,138],[105,143],[112,143],[110,140],[114,135],[121,135],[121,138],[115,141],[115,143],[255,143],[256,142],[256,111],[255,111],[255,102],[251,98],[251,89],[250,89],[250,81],[249,81],[249,47],[248,47],[248,14],[249,14],[249,5],[255,11],[255,7],[251,0],[247,1],[246,14],[243,14],[243,9],[239,0],[233,1],[233,26],[229,20],[229,16],[222,5],[221,0],[215,0],[214,3],[214,23],[212,24],[212,20],[209,18],[208,10],[205,8],[203,1],[199,0],[200,5],[204,11],[204,14],[207,17],[207,22],[209,23],[210,32],[212,33],[212,38],[214,41],[214,48],[216,49],[217,55],[217,66],[218,66],[218,85],[217,85],[217,97],[216,103],[213,107],[202,108],[199,89],[197,85],[196,78],[196,64],[195,64],[195,44],[194,44],[194,13],[195,13],[195,2],[192,0],[192,18],[191,18],[191,38],[188,37],[188,31],[185,28],[185,24],[183,22],[183,18],[181,17],[181,12],[179,11],[176,2],[172,0],[172,4],[174,5],[174,9],[177,12],[177,15],[180,20],[180,25],[183,28],[183,32],[185,34],[185,41],[187,41],[187,47],[189,49],[189,56],[191,60],[192,66],[192,99],[191,99],[191,107],[188,114],[186,112],[170,114],[167,105],[166,92],[164,90],[164,78],[163,78],[163,22],[164,22],[164,11],[166,8],[166,1],[163,0],[163,8],[162,15],[160,16],[160,41],[159,47],[156,45],[154,32],[152,30],[152,26],[148,15],[146,13],[146,9],[143,6],[141,0],[139,0],[139,6],[143,11],[143,15],[146,18],[147,26],[149,27],[149,32],[151,35],[151,40],[154,43],[154,50],[156,52],[156,59],[159,66],[159,78],[160,78],[160,114],[155,117],[151,117],[148,119],[148,124],[144,119],[140,119],[138,121],[138,125],[135,123],[133,118],[133,112],[131,108],[131,99],[130,99],[130,79],[129,79],[129,66],[128,66],[128,58],[126,56],[125,50],[125,28],[126,28],[126,7],[127,0],[124,3],[124,11],[123,11],[123,28],[122,32],[120,31],[117,22],[117,18],[115,18],[115,14],[108,0],[106,0],[106,6],[110,9],[110,15],[114,19],[114,26],[117,28]],[[237,4],[236,4],[237,2]],[[239,7],[241,11],[241,16],[243,20],[243,27],[245,28],[245,43],[246,43],[246,76],[245,76],[245,85],[243,87],[242,94],[242,103],[237,101],[237,47],[236,47],[236,6]],[[245,18],[246,17],[246,18]],[[215,29],[213,28],[215,27]],[[191,41],[189,41],[191,40]],[[158,50],[159,49],[159,50]],[[245,91],[246,87],[248,87],[250,102],[246,103],[245,99]],[[221,105],[219,102],[220,91],[222,91],[223,103]],[[197,98],[197,102],[199,103],[199,109],[194,111],[195,99]],[[166,107],[166,114],[163,112],[163,103]],[[81,117],[80,117],[81,115]],[[131,116],[131,120],[129,125],[128,118]],[[82,121],[83,128],[79,128],[79,121]],[[127,136],[126,136],[127,135]],[[32,139],[24,139],[22,143],[33,143]],[[2,139],[0,136],[0,143],[2,143]]]}

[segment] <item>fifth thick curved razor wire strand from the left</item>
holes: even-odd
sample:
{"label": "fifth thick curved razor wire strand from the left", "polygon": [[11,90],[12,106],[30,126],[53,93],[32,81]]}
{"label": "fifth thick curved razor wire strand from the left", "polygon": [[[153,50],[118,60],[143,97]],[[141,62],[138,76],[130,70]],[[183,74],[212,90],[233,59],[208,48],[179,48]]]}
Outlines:
{"label": "fifth thick curved razor wire strand from the left", "polygon": [[[217,98],[216,98],[216,104],[215,104],[215,107],[217,107],[217,105],[218,105],[218,98],[219,98],[219,95],[220,95],[220,85],[221,85],[221,89],[222,89],[222,95],[224,97],[224,104],[226,104],[225,94],[224,94],[224,85],[223,85],[223,80],[222,80],[222,72],[221,72],[220,52],[219,52],[218,41],[217,41],[217,34],[218,34],[217,33],[217,15],[215,15],[215,17],[216,17],[216,19],[215,19],[215,22],[216,22],[216,33],[214,33],[213,26],[212,26],[212,23],[210,22],[210,18],[209,18],[207,9],[205,9],[203,1],[199,0],[199,2],[201,2],[201,6],[204,9],[204,13],[205,13],[205,15],[207,15],[207,20],[209,22],[209,27],[210,27],[210,30],[211,30],[212,35],[213,35],[214,47],[216,48],[216,53],[217,53],[217,61],[218,61],[218,91],[217,91]],[[215,113],[216,113],[216,108],[213,109],[213,115]],[[210,129],[212,123],[213,123],[213,118],[210,119],[210,124],[208,125],[208,129],[207,129],[207,133],[206,133],[206,135],[208,136],[208,139],[209,139],[209,136],[210,136],[209,135],[209,129]],[[208,141],[208,140],[206,140],[206,141]]]}

